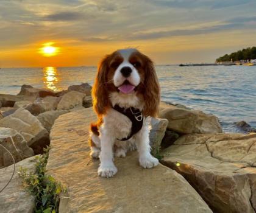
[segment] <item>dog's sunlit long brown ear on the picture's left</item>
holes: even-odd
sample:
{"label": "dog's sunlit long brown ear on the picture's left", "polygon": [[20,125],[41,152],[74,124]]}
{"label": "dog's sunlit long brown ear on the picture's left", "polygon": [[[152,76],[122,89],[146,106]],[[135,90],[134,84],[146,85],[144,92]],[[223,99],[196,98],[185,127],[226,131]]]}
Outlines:
{"label": "dog's sunlit long brown ear on the picture's left", "polygon": [[92,89],[93,108],[99,117],[105,114],[110,106],[107,89],[108,58],[109,55],[105,56],[99,64],[98,73]]}

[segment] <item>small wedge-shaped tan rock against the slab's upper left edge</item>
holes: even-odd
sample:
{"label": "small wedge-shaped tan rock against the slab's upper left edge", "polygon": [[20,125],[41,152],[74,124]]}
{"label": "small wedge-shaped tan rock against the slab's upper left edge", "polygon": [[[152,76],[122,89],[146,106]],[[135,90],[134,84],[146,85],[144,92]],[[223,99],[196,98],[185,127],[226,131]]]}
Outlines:
{"label": "small wedge-shaped tan rock against the slab's upper left edge", "polygon": [[51,131],[54,121],[62,114],[68,113],[68,110],[52,110],[41,113],[37,116],[37,119],[41,122],[44,128],[48,132]]}

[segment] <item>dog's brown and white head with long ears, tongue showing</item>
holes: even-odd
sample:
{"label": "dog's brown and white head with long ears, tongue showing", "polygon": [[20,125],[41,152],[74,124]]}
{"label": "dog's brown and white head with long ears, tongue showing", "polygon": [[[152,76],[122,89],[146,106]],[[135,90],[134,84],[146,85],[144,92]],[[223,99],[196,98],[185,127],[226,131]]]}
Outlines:
{"label": "dog's brown and white head with long ears, tongue showing", "polygon": [[160,88],[154,65],[137,49],[121,49],[101,61],[93,85],[93,106],[99,116],[111,107],[111,94],[139,97],[144,116],[155,116],[160,101]]}

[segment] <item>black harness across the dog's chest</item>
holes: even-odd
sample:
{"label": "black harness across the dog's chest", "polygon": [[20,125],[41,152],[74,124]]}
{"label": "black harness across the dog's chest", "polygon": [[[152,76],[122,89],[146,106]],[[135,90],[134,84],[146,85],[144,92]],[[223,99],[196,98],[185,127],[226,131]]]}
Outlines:
{"label": "black harness across the dog's chest", "polygon": [[143,114],[139,109],[133,107],[122,108],[119,105],[115,105],[113,109],[128,117],[132,122],[132,130],[130,131],[130,134],[126,138],[118,139],[119,141],[127,141],[141,130],[143,125]]}

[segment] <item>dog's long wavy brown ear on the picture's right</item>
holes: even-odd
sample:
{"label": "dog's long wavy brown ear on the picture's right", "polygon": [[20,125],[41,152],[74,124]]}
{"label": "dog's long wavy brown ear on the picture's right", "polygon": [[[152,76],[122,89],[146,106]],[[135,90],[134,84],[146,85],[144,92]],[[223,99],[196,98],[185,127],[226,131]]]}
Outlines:
{"label": "dog's long wavy brown ear on the picture's right", "polygon": [[144,79],[144,116],[155,117],[158,114],[158,106],[160,103],[160,86],[155,72],[154,63],[144,55],[145,61],[145,79]]}

